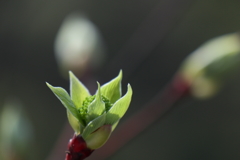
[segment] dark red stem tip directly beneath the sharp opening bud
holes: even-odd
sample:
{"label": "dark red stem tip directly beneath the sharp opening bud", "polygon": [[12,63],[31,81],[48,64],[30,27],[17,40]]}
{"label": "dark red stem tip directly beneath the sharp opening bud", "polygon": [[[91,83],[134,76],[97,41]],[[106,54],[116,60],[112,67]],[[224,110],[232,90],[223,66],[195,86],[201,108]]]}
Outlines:
{"label": "dark red stem tip directly beneath the sharp opening bud", "polygon": [[75,135],[68,143],[65,160],[83,160],[90,156],[94,150],[87,148],[81,135]]}

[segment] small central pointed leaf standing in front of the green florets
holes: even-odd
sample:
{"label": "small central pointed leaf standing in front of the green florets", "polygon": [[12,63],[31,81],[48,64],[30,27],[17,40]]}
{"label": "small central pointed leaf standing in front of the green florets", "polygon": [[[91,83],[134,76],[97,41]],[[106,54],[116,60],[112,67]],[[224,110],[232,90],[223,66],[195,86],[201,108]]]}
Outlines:
{"label": "small central pointed leaf standing in front of the green florets", "polygon": [[98,82],[97,84],[98,90],[96,93],[96,97],[88,107],[88,122],[102,115],[102,113],[105,111],[105,103],[102,101],[100,84]]}

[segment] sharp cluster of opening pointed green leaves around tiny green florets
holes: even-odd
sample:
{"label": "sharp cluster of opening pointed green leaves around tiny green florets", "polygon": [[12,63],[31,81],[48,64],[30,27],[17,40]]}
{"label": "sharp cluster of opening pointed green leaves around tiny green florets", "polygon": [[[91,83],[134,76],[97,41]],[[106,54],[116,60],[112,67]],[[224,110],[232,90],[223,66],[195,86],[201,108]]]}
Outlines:
{"label": "sharp cluster of opening pointed green leaves around tiny green florets", "polygon": [[97,82],[95,95],[91,95],[72,72],[69,72],[69,76],[70,95],[61,87],[53,87],[49,83],[47,85],[67,109],[69,123],[76,134],[89,139],[93,132],[104,125],[111,126],[112,132],[126,113],[132,97],[130,84],[127,93],[121,97],[122,71],[103,86]]}

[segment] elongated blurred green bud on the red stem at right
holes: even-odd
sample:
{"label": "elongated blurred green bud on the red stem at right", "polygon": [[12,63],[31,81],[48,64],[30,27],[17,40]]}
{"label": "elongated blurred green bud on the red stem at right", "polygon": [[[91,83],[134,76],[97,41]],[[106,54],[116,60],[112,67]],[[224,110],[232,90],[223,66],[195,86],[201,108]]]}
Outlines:
{"label": "elongated blurred green bud on the red stem at right", "polygon": [[239,33],[207,41],[183,62],[178,75],[191,85],[193,96],[214,95],[240,64]]}

